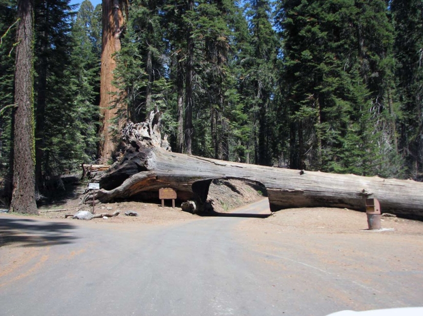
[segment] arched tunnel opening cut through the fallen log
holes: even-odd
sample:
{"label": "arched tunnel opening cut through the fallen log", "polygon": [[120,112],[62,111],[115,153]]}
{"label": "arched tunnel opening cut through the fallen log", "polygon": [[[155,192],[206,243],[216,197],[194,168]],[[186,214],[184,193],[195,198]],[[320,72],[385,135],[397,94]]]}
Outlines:
{"label": "arched tunnel opening cut through the fallen log", "polygon": [[202,216],[265,218],[271,214],[267,189],[256,181],[214,178],[194,183],[192,189],[204,202]]}

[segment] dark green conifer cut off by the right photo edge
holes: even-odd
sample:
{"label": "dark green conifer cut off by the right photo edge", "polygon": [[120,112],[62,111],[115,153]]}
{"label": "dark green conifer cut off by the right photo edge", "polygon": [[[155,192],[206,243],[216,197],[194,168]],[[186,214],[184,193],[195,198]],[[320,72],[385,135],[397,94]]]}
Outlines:
{"label": "dark green conifer cut off by the right photo edge", "polygon": [[398,143],[406,168],[414,179],[423,178],[423,3],[391,2],[395,27],[395,83],[401,109]]}

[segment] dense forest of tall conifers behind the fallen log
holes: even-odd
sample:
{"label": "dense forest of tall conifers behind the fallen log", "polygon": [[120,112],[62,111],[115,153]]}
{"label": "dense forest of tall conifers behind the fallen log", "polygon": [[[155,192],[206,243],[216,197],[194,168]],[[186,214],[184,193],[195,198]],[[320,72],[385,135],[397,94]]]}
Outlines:
{"label": "dense forest of tall conifers behind the fallen log", "polygon": [[[9,196],[22,3],[0,0]],[[120,128],[155,107],[173,151],[423,180],[423,0],[30,3],[38,196],[81,163],[112,163]]]}

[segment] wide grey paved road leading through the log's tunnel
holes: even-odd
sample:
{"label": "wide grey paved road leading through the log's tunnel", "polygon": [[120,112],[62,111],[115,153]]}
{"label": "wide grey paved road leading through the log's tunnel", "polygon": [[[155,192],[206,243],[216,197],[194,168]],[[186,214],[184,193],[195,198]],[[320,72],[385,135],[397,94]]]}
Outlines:
{"label": "wide grey paved road leading through the log's tunnel", "polygon": [[0,229],[20,231],[26,246],[0,247],[0,266],[9,266],[0,272],[0,315],[320,316],[423,305],[421,271],[403,273],[412,283],[398,297],[398,276],[378,277],[375,288],[359,269],[320,266],[300,236],[247,236],[240,227],[250,219],[241,216],[268,212],[266,203],[154,227],[2,216]]}

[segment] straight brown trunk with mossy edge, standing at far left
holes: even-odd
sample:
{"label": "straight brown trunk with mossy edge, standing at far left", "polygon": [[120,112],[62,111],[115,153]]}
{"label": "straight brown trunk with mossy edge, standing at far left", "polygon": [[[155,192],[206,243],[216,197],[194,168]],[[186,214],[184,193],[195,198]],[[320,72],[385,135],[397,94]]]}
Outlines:
{"label": "straight brown trunk with mossy edge, standing at far left", "polygon": [[13,192],[11,212],[36,214],[35,149],[33,108],[33,1],[18,1],[17,27]]}

